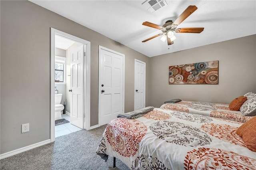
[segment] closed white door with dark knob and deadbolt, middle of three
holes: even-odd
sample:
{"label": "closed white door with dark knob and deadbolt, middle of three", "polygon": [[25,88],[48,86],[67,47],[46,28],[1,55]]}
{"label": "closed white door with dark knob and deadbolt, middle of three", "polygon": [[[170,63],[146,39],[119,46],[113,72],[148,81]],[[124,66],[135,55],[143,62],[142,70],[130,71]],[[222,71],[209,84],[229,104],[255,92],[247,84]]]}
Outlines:
{"label": "closed white door with dark knob and deadbolt, middle of three", "polygon": [[99,46],[99,126],[124,111],[124,55]]}

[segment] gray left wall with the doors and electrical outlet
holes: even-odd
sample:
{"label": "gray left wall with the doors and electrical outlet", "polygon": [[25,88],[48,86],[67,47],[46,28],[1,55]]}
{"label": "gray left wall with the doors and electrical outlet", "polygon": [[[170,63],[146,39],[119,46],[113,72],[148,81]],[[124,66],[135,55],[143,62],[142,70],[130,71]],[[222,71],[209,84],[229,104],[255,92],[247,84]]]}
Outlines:
{"label": "gray left wall with the doors and electrical outlet", "polygon": [[[0,1],[0,154],[50,138],[50,28],[91,42],[91,120],[98,124],[98,45],[125,55],[125,108],[134,109],[134,59],[149,57],[29,1]],[[131,73],[132,70],[132,73]],[[21,125],[30,123],[30,132]]]}

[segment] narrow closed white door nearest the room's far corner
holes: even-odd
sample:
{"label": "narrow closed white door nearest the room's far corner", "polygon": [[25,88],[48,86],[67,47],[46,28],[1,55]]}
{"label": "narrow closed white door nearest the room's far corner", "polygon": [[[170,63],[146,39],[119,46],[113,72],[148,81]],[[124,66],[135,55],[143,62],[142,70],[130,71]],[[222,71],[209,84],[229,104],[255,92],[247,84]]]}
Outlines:
{"label": "narrow closed white door nearest the room's far corner", "polygon": [[135,59],[134,62],[134,111],[145,107],[146,63]]}

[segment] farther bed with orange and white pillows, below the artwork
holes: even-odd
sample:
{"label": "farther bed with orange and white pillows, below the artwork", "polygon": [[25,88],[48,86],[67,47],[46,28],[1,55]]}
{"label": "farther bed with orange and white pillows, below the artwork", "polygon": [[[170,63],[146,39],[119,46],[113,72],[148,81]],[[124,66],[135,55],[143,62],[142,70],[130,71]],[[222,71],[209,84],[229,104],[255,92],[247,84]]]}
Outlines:
{"label": "farther bed with orange and white pillows, below the artwork", "polygon": [[[256,93],[249,92],[243,96],[237,97],[229,104],[181,101],[178,99],[173,99],[164,102],[160,108],[244,123],[256,115],[255,101]],[[232,103],[234,103],[234,105],[232,105]],[[250,109],[250,107],[253,108]]]}

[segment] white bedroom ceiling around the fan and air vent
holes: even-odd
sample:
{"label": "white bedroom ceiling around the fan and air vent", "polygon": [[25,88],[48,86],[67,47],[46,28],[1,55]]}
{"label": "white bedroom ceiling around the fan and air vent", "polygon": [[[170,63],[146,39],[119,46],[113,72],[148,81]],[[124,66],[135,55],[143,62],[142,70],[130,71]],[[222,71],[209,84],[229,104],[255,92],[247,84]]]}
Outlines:
{"label": "white bedroom ceiling around the fan and air vent", "polygon": [[[142,5],[144,0],[30,1],[148,57],[256,34],[256,0],[167,0],[168,6],[154,13]],[[202,33],[176,33],[177,39],[169,46],[161,37],[142,43],[161,33],[143,22],[162,26],[167,20],[176,20],[190,5],[198,9],[177,28],[204,27]]]}

